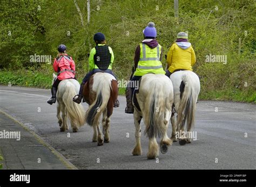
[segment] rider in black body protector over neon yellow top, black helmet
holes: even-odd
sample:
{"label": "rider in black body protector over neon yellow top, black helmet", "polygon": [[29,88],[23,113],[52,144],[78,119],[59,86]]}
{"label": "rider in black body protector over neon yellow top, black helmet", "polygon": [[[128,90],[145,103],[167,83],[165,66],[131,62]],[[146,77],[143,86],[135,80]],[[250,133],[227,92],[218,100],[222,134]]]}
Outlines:
{"label": "rider in black body protector over neon yellow top, black helmet", "polygon": [[[105,35],[101,32],[98,32],[93,37],[96,46],[92,48],[89,56],[89,73],[87,73],[80,85],[79,94],[73,97],[73,102],[80,103],[83,98],[83,89],[85,83],[89,78],[98,72],[109,73],[113,75],[116,80],[117,77],[112,71],[112,65],[114,61],[114,53],[112,48],[106,45]],[[118,107],[119,102],[115,100],[113,107]]]}

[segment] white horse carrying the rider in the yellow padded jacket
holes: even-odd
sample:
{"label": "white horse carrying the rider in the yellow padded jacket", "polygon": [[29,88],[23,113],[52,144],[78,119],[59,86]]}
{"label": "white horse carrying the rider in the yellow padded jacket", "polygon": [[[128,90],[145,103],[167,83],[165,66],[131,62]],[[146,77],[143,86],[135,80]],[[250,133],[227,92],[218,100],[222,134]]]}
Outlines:
{"label": "white horse carrying the rider in the yellow padded jacket", "polygon": [[197,74],[188,70],[174,72],[170,79],[174,91],[174,109],[177,113],[177,121],[174,113],[171,117],[171,139],[175,142],[179,138],[180,145],[185,145],[191,143],[191,128],[194,126],[200,81]]}

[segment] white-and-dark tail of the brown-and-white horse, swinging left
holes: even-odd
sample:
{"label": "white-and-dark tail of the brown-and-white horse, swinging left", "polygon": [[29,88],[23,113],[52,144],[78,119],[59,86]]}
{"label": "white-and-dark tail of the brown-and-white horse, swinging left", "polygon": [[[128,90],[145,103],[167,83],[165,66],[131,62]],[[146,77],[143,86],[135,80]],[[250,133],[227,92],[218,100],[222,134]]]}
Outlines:
{"label": "white-and-dark tail of the brown-and-white horse, swinging left", "polygon": [[107,80],[104,76],[99,78],[99,84],[96,91],[96,99],[90,105],[85,114],[86,123],[90,126],[95,125],[100,115],[105,110],[107,102],[110,98],[111,80]]}

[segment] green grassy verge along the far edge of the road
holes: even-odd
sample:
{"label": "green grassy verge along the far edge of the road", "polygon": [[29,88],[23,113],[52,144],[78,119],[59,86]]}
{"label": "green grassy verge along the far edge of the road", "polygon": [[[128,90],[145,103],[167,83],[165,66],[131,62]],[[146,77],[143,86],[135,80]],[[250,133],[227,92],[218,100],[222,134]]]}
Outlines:
{"label": "green grassy verge along the far edge of the road", "polygon": [[[216,75],[215,77],[218,77],[218,75]],[[218,79],[219,81],[221,81],[221,77],[219,77]],[[79,77],[78,81],[81,82],[82,78]],[[2,85],[8,85],[10,83],[11,85],[18,85],[23,87],[50,89],[51,82],[52,72],[45,73],[44,71],[42,71],[41,73],[39,73],[38,71],[24,69],[19,71],[0,70],[0,84]],[[201,77],[200,82],[201,91],[199,99],[231,100],[236,102],[256,103],[256,91],[254,88],[255,84],[253,87],[253,85],[251,85],[252,82],[249,82],[247,87],[242,87],[242,84],[235,85],[234,87],[231,87],[230,84],[226,84],[226,87],[224,86],[219,88],[214,88],[211,85],[207,85],[208,80],[206,77]],[[221,85],[223,84],[225,83],[222,80]],[[119,88],[119,95],[125,95],[125,88]]]}

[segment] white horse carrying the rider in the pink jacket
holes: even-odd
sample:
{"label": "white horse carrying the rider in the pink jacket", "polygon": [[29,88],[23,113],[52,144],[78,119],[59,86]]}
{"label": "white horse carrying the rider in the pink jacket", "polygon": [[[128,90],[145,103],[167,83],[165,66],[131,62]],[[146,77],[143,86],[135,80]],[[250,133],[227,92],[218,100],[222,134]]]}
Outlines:
{"label": "white horse carrying the rider in the pink jacket", "polygon": [[[57,76],[53,73],[53,82]],[[73,132],[78,131],[78,127],[81,127],[85,123],[84,108],[82,104],[73,102],[73,96],[79,92],[80,84],[77,80],[70,78],[63,80],[58,85],[57,91],[57,118],[60,126],[60,132],[64,132],[69,129],[68,118],[71,123]],[[62,116],[60,116],[60,111]]]}

